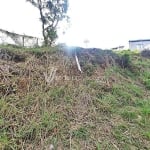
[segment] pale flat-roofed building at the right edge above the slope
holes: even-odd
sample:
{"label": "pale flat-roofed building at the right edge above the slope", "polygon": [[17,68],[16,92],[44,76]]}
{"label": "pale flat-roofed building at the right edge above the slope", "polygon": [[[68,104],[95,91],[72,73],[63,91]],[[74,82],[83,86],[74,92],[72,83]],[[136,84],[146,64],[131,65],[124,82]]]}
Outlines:
{"label": "pale flat-roofed building at the right edge above the slope", "polygon": [[130,50],[150,49],[150,39],[129,41]]}

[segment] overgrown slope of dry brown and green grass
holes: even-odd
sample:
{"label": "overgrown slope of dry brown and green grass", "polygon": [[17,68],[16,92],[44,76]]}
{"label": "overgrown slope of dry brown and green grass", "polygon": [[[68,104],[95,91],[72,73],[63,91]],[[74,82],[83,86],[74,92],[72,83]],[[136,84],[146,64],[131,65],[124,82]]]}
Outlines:
{"label": "overgrown slope of dry brown and green grass", "polygon": [[80,73],[60,47],[0,49],[0,149],[150,149],[149,58],[79,48]]}

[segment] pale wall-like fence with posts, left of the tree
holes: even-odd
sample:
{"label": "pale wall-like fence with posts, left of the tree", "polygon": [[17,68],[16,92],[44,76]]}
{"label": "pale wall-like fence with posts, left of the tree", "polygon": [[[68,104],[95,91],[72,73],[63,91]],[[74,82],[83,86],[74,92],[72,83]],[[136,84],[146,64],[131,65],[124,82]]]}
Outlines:
{"label": "pale wall-like fence with posts, left of the tree", "polygon": [[23,47],[36,47],[43,44],[43,39],[28,35],[21,35],[0,29],[0,44],[13,44]]}

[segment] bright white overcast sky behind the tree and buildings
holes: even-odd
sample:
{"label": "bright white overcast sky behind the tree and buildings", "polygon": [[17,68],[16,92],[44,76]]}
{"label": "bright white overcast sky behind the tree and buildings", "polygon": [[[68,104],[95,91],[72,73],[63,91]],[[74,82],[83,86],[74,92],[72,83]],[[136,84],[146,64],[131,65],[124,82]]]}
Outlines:
{"label": "bright white overcast sky behind the tree and buildings", "polygon": [[[70,27],[58,42],[72,46],[128,47],[150,39],[150,0],[69,0]],[[0,28],[41,37],[39,12],[25,0],[0,0]],[[61,27],[62,29],[63,27]]]}

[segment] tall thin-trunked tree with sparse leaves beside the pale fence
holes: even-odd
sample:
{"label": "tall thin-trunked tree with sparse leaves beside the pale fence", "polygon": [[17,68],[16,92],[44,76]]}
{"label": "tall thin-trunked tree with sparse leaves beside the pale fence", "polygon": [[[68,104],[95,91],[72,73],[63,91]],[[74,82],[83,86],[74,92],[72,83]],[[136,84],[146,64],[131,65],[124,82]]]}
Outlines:
{"label": "tall thin-trunked tree with sparse leaves beside the pale fence", "polygon": [[57,39],[58,23],[68,19],[68,0],[26,0],[38,8],[42,22],[44,44],[52,45]]}

